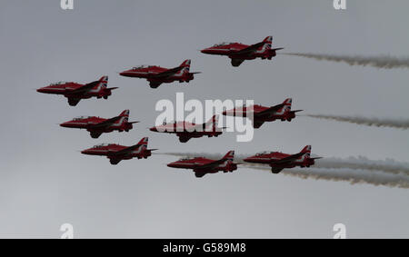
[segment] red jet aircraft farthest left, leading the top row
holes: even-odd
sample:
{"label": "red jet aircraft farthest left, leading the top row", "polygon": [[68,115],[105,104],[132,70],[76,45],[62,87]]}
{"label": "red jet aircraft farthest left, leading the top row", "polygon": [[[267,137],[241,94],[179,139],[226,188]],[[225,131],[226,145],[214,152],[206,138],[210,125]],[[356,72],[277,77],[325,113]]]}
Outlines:
{"label": "red jet aircraft farthest left, leading the top row", "polygon": [[108,84],[108,76],[101,77],[98,81],[88,84],[77,84],[75,82],[58,82],[37,89],[39,93],[45,94],[63,94],[68,98],[68,104],[75,106],[81,99],[91,97],[108,99],[112,94],[112,90],[117,87],[106,87]]}

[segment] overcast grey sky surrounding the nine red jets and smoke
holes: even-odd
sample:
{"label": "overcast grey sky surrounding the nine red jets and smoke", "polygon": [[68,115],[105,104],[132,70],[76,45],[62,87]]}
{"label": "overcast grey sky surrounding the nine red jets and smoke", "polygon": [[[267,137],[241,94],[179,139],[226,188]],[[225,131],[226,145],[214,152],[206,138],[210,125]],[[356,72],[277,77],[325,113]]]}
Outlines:
{"label": "overcast grey sky surrounding the nine red jets and smoke", "polygon": [[[152,133],[158,100],[252,99],[274,105],[293,98],[304,114],[409,118],[409,70],[318,62],[278,55],[232,67],[226,57],[201,54],[222,41],[254,44],[273,35],[283,52],[407,56],[408,1],[2,1],[0,4],[0,237],[324,237],[343,222],[348,237],[408,237],[409,191],[302,180],[240,167],[196,179],[165,166],[175,156],[153,155],[116,166],[79,153],[96,143],[131,145],[149,136],[165,152],[253,154],[262,150],[409,162],[409,133],[315,120],[264,124],[254,140],[235,133],[179,143]],[[117,73],[138,64],[174,67],[192,59],[190,84],[151,89]],[[118,86],[108,100],[68,106],[35,88],[56,81],[92,82],[109,75]],[[129,133],[89,133],[57,124],[78,115],[106,118],[130,109]]]}

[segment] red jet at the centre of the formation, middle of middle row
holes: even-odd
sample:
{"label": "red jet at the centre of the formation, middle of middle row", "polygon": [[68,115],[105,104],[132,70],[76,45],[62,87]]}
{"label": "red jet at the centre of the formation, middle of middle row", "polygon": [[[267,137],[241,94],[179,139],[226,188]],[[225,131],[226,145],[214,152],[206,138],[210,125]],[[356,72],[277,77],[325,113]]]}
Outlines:
{"label": "red jet at the centre of the formation, middle of middle row", "polygon": [[223,128],[217,127],[217,116],[214,115],[205,124],[192,124],[188,122],[175,122],[169,124],[163,124],[150,128],[150,131],[161,133],[175,133],[179,137],[181,143],[186,143],[191,138],[198,138],[207,135],[208,137],[219,136],[223,132],[220,131]]}

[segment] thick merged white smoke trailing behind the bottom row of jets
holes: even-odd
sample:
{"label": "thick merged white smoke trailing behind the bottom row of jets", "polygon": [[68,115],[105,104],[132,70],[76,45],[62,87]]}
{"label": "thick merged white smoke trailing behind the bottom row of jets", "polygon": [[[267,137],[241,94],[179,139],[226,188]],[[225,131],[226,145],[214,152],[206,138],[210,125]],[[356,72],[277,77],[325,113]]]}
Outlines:
{"label": "thick merged white smoke trailing behind the bottom row of jets", "polygon": [[[217,153],[157,153],[174,156],[204,156],[209,159],[220,159],[223,154]],[[243,163],[244,156],[236,155],[236,162],[248,168],[271,171],[270,166],[258,163]],[[391,159],[384,161],[369,160],[359,156],[340,158],[324,158],[317,160],[312,168],[293,168],[283,170],[285,175],[316,180],[344,181],[349,183],[370,183],[391,187],[409,188],[409,163],[400,163]]]}

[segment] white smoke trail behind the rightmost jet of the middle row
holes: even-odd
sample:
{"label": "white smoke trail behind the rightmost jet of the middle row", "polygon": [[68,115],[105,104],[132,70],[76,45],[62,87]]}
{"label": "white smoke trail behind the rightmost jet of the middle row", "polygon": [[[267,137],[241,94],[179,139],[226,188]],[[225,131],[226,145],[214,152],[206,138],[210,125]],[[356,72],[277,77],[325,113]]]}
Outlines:
{"label": "white smoke trail behind the rightmost jet of the middle row", "polygon": [[306,114],[305,116],[333,120],[337,122],[346,122],[350,124],[360,124],[377,127],[392,127],[398,129],[409,129],[409,120],[393,120],[393,119],[379,119],[379,118],[365,118],[360,116],[336,116],[336,115],[322,115],[322,114]]}

